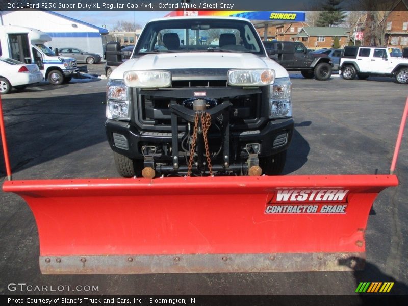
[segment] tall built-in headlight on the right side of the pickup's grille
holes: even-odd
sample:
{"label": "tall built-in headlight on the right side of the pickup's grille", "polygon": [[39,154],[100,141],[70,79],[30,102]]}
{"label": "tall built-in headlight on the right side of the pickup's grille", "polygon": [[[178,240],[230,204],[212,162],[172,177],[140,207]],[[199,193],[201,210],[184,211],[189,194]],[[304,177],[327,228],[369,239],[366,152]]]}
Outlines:
{"label": "tall built-in headlight on the right side of the pickup's grille", "polygon": [[289,78],[275,79],[270,99],[269,118],[292,116],[292,82]]}

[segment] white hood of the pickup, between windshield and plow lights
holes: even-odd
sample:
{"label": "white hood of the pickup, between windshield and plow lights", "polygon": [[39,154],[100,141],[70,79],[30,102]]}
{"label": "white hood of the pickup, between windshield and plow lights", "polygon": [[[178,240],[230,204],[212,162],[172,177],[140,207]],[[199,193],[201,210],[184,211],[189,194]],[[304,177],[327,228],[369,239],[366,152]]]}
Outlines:
{"label": "white hood of the pickup, between windshield and plow lights", "polygon": [[281,65],[267,57],[250,53],[197,52],[146,54],[138,59],[130,59],[115,69],[110,78],[123,79],[123,73],[130,70],[166,70],[190,68],[226,69],[274,69],[276,78],[288,77]]}

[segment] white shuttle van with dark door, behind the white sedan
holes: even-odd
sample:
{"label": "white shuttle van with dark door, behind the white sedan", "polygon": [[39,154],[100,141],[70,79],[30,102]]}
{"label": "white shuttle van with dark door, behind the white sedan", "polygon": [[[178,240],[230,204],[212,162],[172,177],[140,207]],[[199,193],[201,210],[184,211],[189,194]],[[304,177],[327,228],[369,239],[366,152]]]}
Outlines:
{"label": "white shuttle van with dark door, behind the white sedan", "polygon": [[77,61],[58,56],[44,45],[51,37],[39,30],[0,25],[0,56],[37,64],[45,80],[54,85],[69,82],[79,73]]}

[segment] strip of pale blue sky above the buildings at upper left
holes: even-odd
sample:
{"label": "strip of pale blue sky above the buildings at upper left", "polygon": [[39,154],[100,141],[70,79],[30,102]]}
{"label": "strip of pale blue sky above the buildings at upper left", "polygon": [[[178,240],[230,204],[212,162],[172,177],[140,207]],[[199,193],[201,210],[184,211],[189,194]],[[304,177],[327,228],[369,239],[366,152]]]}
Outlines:
{"label": "strip of pale blue sky above the buildings at upper left", "polygon": [[113,29],[117,21],[135,21],[135,24],[140,24],[142,27],[147,21],[154,18],[164,17],[169,12],[146,12],[146,11],[111,11],[111,12],[74,12],[64,11],[57,12],[71,18],[75,18],[100,28],[108,30]]}

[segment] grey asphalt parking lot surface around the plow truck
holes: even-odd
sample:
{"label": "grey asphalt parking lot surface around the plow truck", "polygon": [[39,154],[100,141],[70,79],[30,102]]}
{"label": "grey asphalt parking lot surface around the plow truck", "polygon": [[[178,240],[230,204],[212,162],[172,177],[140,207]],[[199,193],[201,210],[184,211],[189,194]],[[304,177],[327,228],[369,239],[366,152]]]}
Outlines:
{"label": "grey asphalt parking lot surface around the plow truck", "polygon": [[[104,64],[88,66],[102,74]],[[291,74],[295,134],[285,175],[387,174],[407,86],[391,78],[328,81]],[[13,179],[119,177],[105,135],[105,78],[47,83],[2,96]],[[14,194],[0,193],[0,294],[10,283],[95,285],[86,294],[353,295],[360,282],[395,282],[408,294],[408,128],[396,174],[400,185],[382,191],[370,212],[367,264],[358,272],[284,272],[142,275],[42,275],[33,215]],[[5,167],[0,161],[4,180]],[[330,231],[328,224],[327,231]],[[83,294],[84,292],[57,292]]]}

